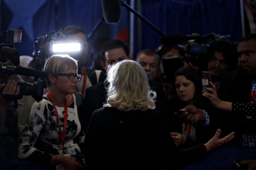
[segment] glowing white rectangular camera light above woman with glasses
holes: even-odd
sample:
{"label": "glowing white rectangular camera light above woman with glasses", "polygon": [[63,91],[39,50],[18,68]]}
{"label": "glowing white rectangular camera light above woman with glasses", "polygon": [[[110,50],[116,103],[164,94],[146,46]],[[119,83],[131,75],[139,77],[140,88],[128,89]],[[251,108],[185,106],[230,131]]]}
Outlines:
{"label": "glowing white rectangular camera light above woman with glasses", "polygon": [[53,52],[80,51],[81,44],[75,43],[54,43],[52,45]]}

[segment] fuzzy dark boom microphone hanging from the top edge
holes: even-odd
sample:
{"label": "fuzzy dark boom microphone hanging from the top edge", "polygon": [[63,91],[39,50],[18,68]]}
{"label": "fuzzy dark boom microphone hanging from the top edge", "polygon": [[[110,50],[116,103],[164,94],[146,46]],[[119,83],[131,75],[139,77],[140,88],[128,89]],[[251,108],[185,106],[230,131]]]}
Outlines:
{"label": "fuzzy dark boom microphone hanging from the top edge", "polygon": [[120,0],[102,0],[103,17],[108,24],[117,24],[121,15]]}

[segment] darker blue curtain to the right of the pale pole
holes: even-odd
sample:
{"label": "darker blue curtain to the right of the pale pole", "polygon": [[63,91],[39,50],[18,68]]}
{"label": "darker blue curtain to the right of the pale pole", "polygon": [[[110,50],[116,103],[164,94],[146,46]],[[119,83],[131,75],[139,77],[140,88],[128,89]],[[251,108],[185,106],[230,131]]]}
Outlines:
{"label": "darker blue curtain to the right of the pale pole", "polygon": [[[239,0],[141,0],[142,15],[165,34],[209,33],[242,38]],[[142,49],[155,49],[160,36],[142,24]],[[138,49],[140,50],[140,49]]]}

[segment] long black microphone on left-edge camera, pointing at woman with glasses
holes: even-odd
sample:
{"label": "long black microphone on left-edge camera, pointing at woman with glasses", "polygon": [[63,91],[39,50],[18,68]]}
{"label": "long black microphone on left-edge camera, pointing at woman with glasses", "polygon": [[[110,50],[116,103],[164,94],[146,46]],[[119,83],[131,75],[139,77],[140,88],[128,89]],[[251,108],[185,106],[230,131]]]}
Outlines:
{"label": "long black microphone on left-edge camera, pointing at woman with glasses", "polygon": [[16,67],[15,69],[15,74],[19,75],[27,75],[31,77],[41,77],[41,78],[47,78],[48,73],[40,71],[40,70],[35,70],[35,69],[29,69],[25,67]]}

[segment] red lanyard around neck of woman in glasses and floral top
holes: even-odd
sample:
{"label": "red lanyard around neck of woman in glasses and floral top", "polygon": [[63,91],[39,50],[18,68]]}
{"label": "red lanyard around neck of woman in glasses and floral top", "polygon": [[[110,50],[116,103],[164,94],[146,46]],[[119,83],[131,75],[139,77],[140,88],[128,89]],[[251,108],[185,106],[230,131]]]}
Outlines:
{"label": "red lanyard around neck of woman in glasses and floral top", "polygon": [[[52,102],[52,95],[50,93],[50,91],[48,91],[47,95],[50,98],[50,102]],[[57,119],[57,123],[59,124],[59,115],[58,115],[58,111],[56,109],[56,106],[53,104],[52,105],[54,107],[55,113],[56,113],[56,119]],[[66,132],[66,127],[67,127],[67,101],[65,98],[65,106],[64,106],[64,124],[63,124],[63,132],[61,130],[61,126],[59,125],[59,136],[61,137],[61,142],[62,142],[62,150],[64,150],[64,140],[65,140],[65,132]]]}

